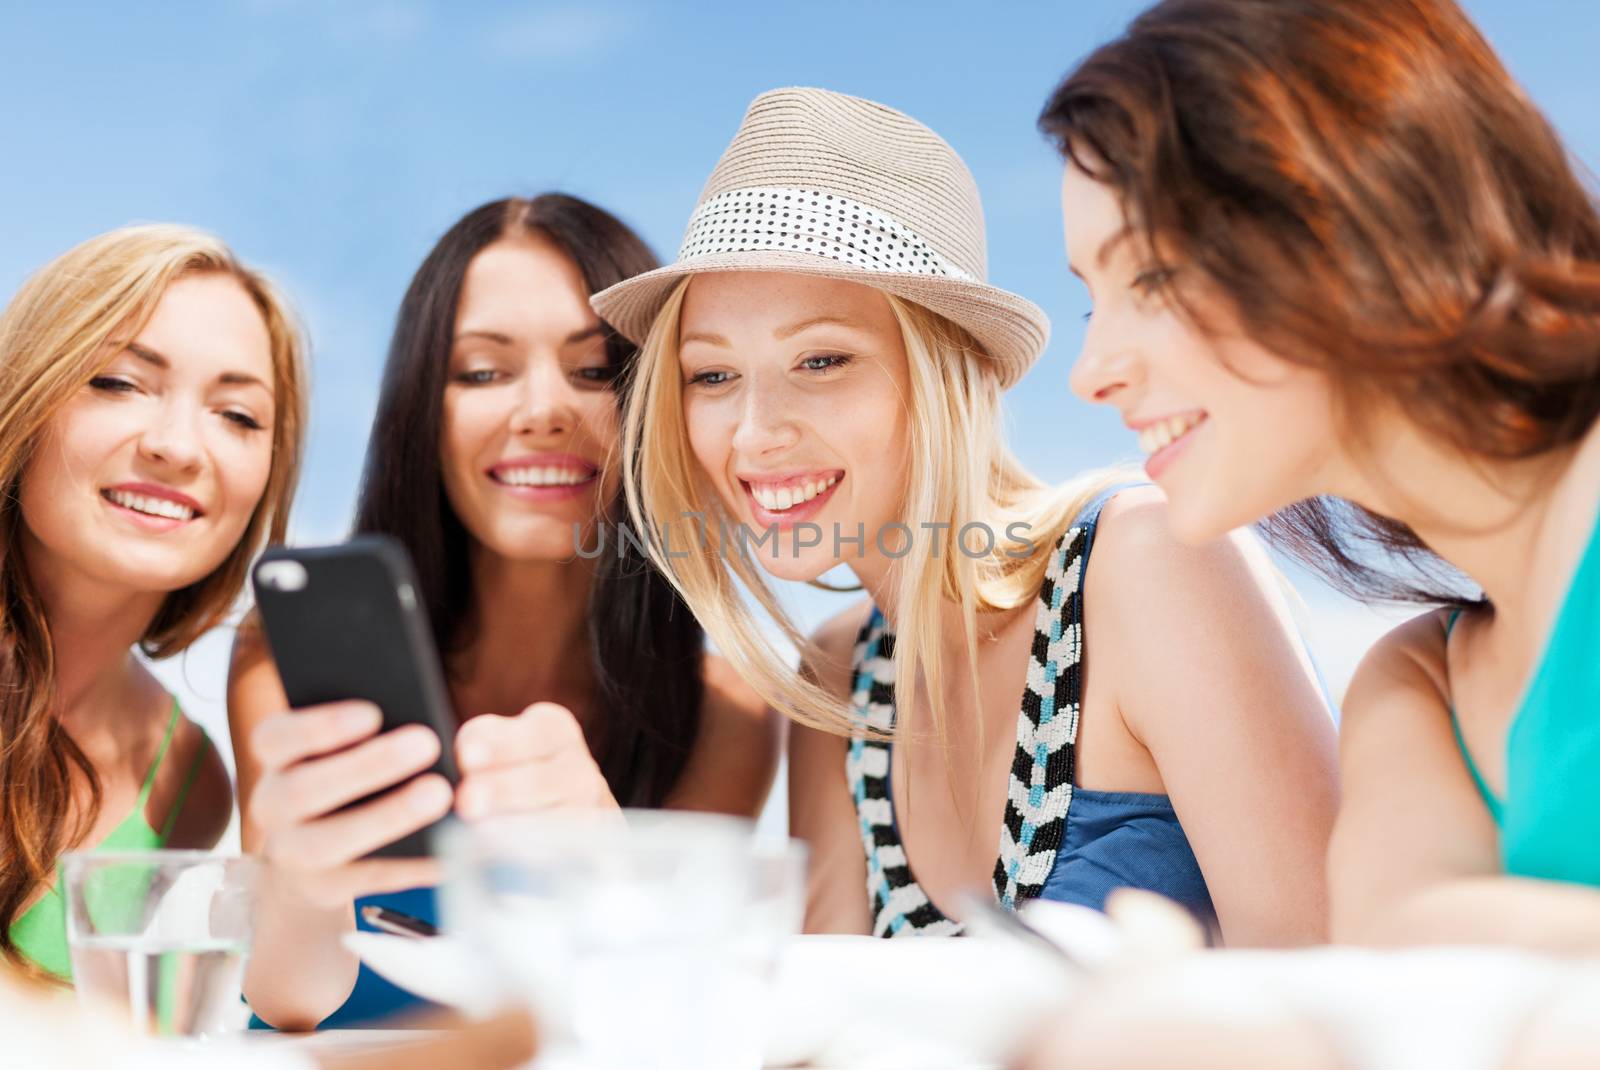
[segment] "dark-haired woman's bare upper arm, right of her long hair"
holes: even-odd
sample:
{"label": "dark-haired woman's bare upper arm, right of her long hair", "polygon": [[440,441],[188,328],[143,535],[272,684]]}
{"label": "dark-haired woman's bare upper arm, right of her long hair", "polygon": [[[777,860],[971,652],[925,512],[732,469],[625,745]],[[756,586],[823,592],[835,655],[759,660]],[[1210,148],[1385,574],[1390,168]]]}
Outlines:
{"label": "dark-haired woman's bare upper arm, right of her long hair", "polygon": [[699,734],[666,806],[755,817],[778,774],[784,720],[722,657],[706,654],[701,678]]}

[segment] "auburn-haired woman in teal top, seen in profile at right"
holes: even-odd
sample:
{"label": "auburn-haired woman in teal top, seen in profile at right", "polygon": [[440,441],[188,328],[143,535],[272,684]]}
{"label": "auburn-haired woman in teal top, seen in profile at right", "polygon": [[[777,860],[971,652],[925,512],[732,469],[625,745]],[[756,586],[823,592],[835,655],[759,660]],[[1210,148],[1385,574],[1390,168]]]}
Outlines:
{"label": "auburn-haired woman in teal top, seen in profile at right", "polygon": [[1334,939],[1600,947],[1600,211],[1560,139],[1451,0],[1166,0],[1040,126],[1072,387],[1174,531],[1267,517],[1446,606],[1346,694]]}

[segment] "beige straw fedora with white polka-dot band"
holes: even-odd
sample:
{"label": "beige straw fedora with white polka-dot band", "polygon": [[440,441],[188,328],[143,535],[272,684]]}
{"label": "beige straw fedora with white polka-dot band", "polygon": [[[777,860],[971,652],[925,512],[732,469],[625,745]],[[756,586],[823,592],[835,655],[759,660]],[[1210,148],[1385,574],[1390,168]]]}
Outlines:
{"label": "beige straw fedora with white polka-dot band", "polygon": [[875,286],[966,328],[1002,387],[1050,339],[1038,305],[986,281],[984,210],[955,150],[909,115],[827,90],[755,98],[701,190],[678,259],[590,304],[642,344],[672,288],[699,272]]}

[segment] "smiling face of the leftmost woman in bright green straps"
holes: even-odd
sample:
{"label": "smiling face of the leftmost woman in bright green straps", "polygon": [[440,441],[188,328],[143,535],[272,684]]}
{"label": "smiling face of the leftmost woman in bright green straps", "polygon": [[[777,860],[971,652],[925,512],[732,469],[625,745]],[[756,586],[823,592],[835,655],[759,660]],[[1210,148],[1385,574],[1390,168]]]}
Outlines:
{"label": "smiling face of the leftmost woman in bright green straps", "polygon": [[266,323],[224,273],[182,275],[50,422],[21,483],[29,568],[166,593],[243,537],[272,467]]}

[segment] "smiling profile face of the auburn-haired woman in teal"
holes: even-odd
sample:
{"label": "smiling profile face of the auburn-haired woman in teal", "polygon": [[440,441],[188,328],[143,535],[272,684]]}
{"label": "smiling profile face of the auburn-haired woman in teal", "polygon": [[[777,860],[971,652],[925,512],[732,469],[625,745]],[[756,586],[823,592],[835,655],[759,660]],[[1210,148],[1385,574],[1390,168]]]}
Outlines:
{"label": "smiling profile face of the auburn-haired woman in teal", "polygon": [[[1182,266],[1163,277],[1142,264],[1109,186],[1069,165],[1061,195],[1067,258],[1094,301],[1072,389],[1122,411],[1173,531],[1203,542],[1326,493],[1342,462],[1326,376],[1243,337]],[[1210,334],[1166,286],[1182,288]]]}

